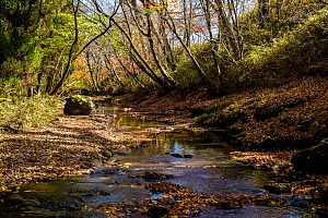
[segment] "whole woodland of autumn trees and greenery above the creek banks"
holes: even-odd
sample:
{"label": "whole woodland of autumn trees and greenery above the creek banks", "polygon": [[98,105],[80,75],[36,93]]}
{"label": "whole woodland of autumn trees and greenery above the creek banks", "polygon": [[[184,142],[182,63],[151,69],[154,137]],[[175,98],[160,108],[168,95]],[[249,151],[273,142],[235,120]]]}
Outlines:
{"label": "whole woodland of autumn trees and greenery above the creek banks", "polygon": [[281,80],[277,53],[288,69],[327,56],[325,1],[4,0],[0,10],[0,74],[26,95],[220,92]]}

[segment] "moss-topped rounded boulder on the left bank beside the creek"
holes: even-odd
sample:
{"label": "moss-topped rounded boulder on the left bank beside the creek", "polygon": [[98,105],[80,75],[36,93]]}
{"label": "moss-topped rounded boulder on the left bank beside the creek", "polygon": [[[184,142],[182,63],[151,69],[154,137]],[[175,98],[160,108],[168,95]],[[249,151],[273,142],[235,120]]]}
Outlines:
{"label": "moss-topped rounded boulder on the left bank beside the creek", "polygon": [[89,116],[94,108],[89,96],[75,95],[66,99],[63,113],[66,116]]}

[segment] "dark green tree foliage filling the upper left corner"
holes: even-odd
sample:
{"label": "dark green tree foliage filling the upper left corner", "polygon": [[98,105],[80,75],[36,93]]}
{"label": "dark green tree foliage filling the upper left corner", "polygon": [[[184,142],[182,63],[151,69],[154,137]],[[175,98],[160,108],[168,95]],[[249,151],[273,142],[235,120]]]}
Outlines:
{"label": "dark green tree foliage filling the upper left corner", "polygon": [[37,29],[43,16],[42,0],[0,2],[1,76],[25,78],[37,50]]}

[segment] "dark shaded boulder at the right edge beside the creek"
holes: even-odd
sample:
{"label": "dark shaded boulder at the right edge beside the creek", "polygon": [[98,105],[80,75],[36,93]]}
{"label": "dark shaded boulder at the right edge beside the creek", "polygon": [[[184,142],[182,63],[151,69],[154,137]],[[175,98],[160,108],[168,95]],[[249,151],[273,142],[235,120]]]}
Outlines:
{"label": "dark shaded boulder at the right edge beside the creek", "polygon": [[295,170],[328,174],[328,138],[315,147],[303,149],[294,155],[292,164]]}

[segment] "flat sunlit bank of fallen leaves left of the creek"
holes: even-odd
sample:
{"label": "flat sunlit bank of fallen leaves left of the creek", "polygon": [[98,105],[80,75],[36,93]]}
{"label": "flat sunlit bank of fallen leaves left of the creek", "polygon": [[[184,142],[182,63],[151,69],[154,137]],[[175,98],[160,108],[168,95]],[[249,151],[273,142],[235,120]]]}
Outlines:
{"label": "flat sunlit bank of fallen leaves left of the creek", "polygon": [[145,133],[115,132],[110,116],[60,114],[46,126],[0,134],[0,189],[89,173],[99,164],[116,165],[115,153],[142,146]]}

